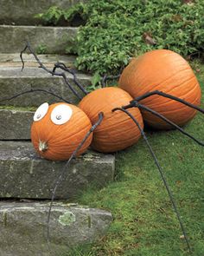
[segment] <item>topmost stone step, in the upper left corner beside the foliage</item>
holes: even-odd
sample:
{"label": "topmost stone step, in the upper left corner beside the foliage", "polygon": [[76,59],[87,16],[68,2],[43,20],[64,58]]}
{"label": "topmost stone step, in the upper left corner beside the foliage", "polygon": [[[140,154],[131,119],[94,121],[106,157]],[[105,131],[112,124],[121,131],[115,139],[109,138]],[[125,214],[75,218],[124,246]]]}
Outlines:
{"label": "topmost stone step, in the upper left corner beside the foliage", "polygon": [[0,23],[35,25],[41,20],[35,18],[36,14],[45,12],[51,6],[68,9],[82,0],[1,0]]}

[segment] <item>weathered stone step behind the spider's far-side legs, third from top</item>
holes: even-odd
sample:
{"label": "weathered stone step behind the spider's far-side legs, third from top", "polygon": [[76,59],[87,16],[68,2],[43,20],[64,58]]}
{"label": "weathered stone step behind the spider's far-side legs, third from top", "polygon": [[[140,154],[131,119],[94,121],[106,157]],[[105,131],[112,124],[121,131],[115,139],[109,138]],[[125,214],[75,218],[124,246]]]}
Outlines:
{"label": "weathered stone step behind the spider's far-side legs, third from top", "polygon": [[[14,54],[6,55],[1,54],[0,61],[0,105],[12,105],[20,107],[36,106],[38,107],[43,102],[61,102],[54,95],[48,95],[44,92],[35,92],[27,95],[21,95],[16,97],[12,101],[1,102],[4,98],[10,98],[13,95],[17,95],[20,92],[24,92],[30,89],[46,89],[52,91],[55,95],[59,95],[66,99],[68,102],[76,103],[79,100],[75,95],[67,88],[67,84],[60,76],[52,76],[45,70],[38,68],[38,64],[35,59],[30,55],[23,55],[26,63],[23,71],[20,57]],[[65,62],[68,67],[73,68],[74,56],[52,56],[41,55],[39,56],[41,61],[45,65],[52,69],[54,62]],[[78,81],[82,86],[87,87],[91,84],[91,75],[77,73]],[[73,83],[73,75],[67,73],[68,81]],[[74,86],[76,89],[76,86]],[[79,91],[79,89],[77,89]],[[84,96],[83,93],[80,93]]]}

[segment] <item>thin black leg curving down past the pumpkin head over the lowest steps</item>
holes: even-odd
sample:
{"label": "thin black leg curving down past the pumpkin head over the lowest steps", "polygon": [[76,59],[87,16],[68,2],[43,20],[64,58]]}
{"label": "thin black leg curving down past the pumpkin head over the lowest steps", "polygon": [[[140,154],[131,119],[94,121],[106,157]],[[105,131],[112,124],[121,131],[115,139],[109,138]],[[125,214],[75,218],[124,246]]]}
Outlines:
{"label": "thin black leg curving down past the pumpkin head over the lowest steps", "polygon": [[80,142],[79,146],[73,151],[73,154],[70,156],[70,158],[68,159],[65,167],[63,167],[60,176],[58,177],[57,181],[55,182],[54,185],[54,190],[52,193],[52,197],[51,197],[51,202],[49,205],[49,209],[48,209],[48,229],[47,229],[47,241],[48,241],[48,248],[50,249],[49,246],[49,220],[50,220],[50,215],[51,215],[51,209],[53,207],[53,203],[54,203],[54,196],[57,190],[57,187],[59,187],[59,185],[61,184],[61,181],[63,179],[64,174],[66,174],[67,172],[67,167],[69,167],[70,162],[73,160],[73,158],[75,157],[75,155],[78,153],[78,151],[80,150],[80,148],[84,145],[84,143],[86,142],[86,140],[88,139],[88,137],[92,134],[92,132],[95,130],[95,128],[97,128],[99,126],[99,124],[101,123],[101,121],[103,121],[104,118],[104,114],[102,112],[99,113],[99,120],[92,125],[92,128],[87,132],[87,134],[85,135],[85,137],[83,138],[83,140]]}

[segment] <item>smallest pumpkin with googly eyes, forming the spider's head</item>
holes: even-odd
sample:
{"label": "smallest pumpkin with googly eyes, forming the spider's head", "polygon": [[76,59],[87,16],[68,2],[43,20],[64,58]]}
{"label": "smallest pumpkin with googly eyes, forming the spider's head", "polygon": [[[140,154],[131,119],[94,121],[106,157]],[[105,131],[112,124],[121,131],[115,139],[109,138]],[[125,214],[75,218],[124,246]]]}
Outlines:
{"label": "smallest pumpkin with googly eyes, forming the spider's head", "polygon": [[[35,112],[31,141],[43,158],[53,161],[67,160],[90,128],[91,121],[80,108],[64,102],[49,106],[46,102]],[[84,153],[91,141],[92,135],[76,155]]]}

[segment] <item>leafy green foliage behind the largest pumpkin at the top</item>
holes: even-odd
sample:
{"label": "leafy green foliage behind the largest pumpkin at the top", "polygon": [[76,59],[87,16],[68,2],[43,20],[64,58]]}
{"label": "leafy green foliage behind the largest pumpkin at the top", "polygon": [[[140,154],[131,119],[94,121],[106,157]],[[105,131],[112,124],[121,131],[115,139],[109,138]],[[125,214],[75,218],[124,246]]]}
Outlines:
{"label": "leafy green foliage behind the largest pumpkin at the top", "polygon": [[78,69],[117,74],[132,56],[150,49],[172,49],[182,56],[203,51],[204,1],[184,2],[89,0],[68,11],[50,9],[44,19],[56,24],[59,13],[66,20],[80,16],[86,25],[80,27],[74,49]]}

